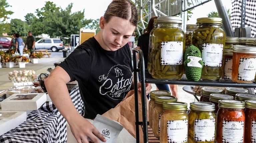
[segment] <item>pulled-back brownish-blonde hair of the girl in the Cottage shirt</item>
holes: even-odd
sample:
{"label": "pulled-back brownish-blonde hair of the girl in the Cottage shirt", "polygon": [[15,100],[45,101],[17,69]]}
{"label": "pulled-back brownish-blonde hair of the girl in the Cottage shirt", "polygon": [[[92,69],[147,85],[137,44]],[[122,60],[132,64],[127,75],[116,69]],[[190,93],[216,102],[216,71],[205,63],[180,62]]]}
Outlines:
{"label": "pulled-back brownish-blonde hair of the girl in the Cottage shirt", "polygon": [[112,16],[117,16],[129,20],[137,27],[138,12],[136,7],[129,0],[113,0],[104,14],[104,19],[108,23]]}

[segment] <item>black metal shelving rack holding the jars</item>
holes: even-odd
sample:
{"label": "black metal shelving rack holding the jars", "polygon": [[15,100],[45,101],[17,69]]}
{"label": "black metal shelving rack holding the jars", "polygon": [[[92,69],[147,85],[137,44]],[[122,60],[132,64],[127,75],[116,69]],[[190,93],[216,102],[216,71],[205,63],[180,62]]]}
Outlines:
{"label": "black metal shelving rack holding the jars", "polygon": [[[137,68],[136,53],[139,54],[140,69]],[[152,129],[148,127],[147,121],[147,106],[146,106],[146,83],[158,83],[158,84],[177,84],[177,85],[198,85],[198,86],[214,86],[214,87],[243,87],[243,88],[255,88],[256,83],[234,83],[232,81],[220,80],[216,82],[209,81],[188,81],[185,76],[180,80],[161,80],[153,79],[151,75],[145,70],[143,52],[140,49],[133,49],[133,69],[134,69],[134,95],[135,95],[135,125],[136,125],[136,143],[139,143],[139,125],[143,130],[144,143],[156,143],[159,142],[157,138],[154,138]],[[145,72],[147,71],[147,72]],[[139,107],[138,107],[138,72],[141,75],[141,103],[142,103],[142,122],[139,121]],[[149,134],[150,133],[150,134]],[[152,136],[153,135],[153,136]],[[150,142],[149,142],[150,141]]]}

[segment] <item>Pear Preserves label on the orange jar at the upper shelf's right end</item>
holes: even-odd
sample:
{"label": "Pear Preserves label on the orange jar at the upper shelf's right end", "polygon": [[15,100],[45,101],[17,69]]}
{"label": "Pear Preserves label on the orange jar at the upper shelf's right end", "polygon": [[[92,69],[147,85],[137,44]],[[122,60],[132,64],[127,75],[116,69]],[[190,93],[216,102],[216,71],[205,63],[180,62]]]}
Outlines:
{"label": "Pear Preserves label on the orange jar at the upper shelf's right end", "polygon": [[256,73],[256,59],[255,58],[240,58],[238,68],[238,80],[253,81]]}

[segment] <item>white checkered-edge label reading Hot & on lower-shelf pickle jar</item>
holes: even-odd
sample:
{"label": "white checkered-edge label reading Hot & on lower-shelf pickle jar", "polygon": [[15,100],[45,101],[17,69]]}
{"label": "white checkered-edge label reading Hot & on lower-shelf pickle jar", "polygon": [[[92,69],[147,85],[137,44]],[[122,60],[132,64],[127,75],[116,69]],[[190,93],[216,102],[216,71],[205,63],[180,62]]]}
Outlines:
{"label": "white checkered-edge label reading Hot & on lower-shelf pickle jar", "polygon": [[215,119],[195,119],[194,140],[205,142],[215,139]]}

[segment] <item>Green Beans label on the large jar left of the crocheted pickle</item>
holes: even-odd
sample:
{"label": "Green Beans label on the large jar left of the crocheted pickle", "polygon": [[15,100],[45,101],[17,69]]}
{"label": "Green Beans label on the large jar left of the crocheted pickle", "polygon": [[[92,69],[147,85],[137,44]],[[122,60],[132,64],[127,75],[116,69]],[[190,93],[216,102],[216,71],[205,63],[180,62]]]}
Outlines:
{"label": "Green Beans label on the large jar left of the crocheted pickle", "polygon": [[161,64],[182,65],[183,42],[161,42]]}

